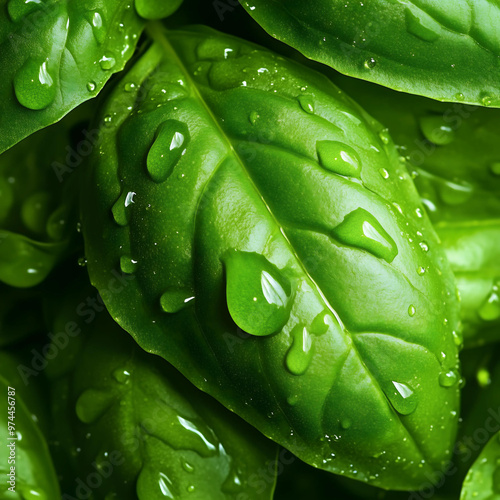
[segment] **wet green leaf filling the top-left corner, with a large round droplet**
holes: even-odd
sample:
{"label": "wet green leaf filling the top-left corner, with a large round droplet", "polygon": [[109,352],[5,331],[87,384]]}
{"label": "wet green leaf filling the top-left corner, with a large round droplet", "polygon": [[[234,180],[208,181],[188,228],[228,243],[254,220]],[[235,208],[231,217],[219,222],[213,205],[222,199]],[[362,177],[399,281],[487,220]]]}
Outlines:
{"label": "wet green leaf filling the top-left corner, with a large round droplet", "polygon": [[0,152],[95,97],[144,27],[128,0],[2,0]]}

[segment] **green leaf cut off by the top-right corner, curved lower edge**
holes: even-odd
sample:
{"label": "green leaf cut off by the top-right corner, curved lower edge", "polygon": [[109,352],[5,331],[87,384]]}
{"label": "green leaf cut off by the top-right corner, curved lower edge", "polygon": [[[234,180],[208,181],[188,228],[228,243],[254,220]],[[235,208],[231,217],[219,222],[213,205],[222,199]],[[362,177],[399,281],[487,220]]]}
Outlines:
{"label": "green leaf cut off by the top-right corner, curved lower edge", "polygon": [[240,0],[272,36],[349,76],[500,106],[500,7],[489,0]]}

